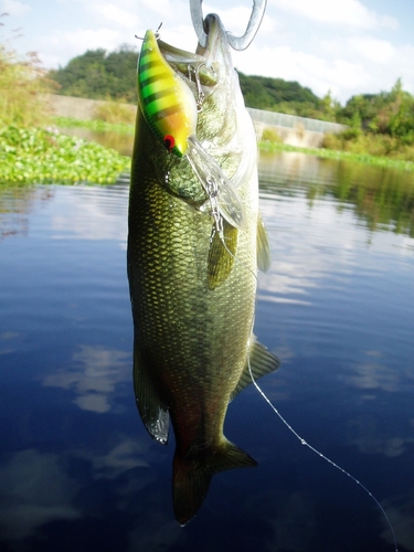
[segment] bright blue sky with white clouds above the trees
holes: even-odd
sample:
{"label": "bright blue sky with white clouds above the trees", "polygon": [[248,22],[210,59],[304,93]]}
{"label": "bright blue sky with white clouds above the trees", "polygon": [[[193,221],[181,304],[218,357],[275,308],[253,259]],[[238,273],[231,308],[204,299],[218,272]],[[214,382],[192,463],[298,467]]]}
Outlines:
{"label": "bright blue sky with white clouds above the trees", "polygon": [[[252,0],[203,1],[225,28],[243,34]],[[38,52],[44,68],[65,66],[86,50],[140,46],[162,22],[163,41],[194,51],[189,0],[0,0],[0,43]],[[19,30],[19,31],[17,31]],[[19,36],[20,34],[20,36]],[[267,0],[247,50],[234,52],[247,75],[297,81],[342,105],[354,94],[390,91],[399,77],[414,94],[414,0]]]}

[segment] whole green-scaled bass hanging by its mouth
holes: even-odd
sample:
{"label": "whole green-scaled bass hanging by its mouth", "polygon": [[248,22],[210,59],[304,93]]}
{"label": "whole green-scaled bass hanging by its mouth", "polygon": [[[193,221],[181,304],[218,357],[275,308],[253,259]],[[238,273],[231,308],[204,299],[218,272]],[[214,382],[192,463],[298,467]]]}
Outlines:
{"label": "whole green-scaled bass hanging by its mouth", "polygon": [[[195,53],[146,34],[153,67],[161,55],[164,76],[179,82],[178,88],[167,83],[163,94],[180,100],[176,121],[187,128],[188,144],[173,152],[164,140],[173,136],[166,120],[171,109],[152,106],[149,113],[140,100],[129,190],[134,391],[156,442],[168,443],[171,422],[173,511],[181,526],[199,511],[215,474],[256,465],[224,436],[223,424],[229,403],[252,378],[279,365],[253,333],[257,269],[269,267],[254,128],[217,15],[205,18],[205,31],[206,46],[199,44]],[[201,96],[195,128],[185,127]],[[243,204],[243,224],[225,216],[234,195]]]}

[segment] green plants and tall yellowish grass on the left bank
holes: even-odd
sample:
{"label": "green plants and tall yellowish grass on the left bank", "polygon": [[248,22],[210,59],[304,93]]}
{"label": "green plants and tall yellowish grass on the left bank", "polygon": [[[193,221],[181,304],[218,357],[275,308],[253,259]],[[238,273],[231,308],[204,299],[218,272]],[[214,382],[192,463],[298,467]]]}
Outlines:
{"label": "green plants and tall yellowish grass on the left bank", "polygon": [[115,182],[129,158],[59,132],[42,99],[54,91],[35,54],[20,59],[0,43],[0,185]]}

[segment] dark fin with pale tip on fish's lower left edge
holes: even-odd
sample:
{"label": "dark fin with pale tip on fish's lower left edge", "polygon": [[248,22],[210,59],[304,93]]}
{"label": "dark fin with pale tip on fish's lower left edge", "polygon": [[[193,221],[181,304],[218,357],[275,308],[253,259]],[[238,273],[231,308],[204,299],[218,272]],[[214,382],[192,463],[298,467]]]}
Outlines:
{"label": "dark fin with pale tip on fish's lower left edge", "polygon": [[153,389],[148,365],[137,344],[134,347],[134,391],[139,414],[148,433],[158,443],[167,445],[170,422],[168,408]]}

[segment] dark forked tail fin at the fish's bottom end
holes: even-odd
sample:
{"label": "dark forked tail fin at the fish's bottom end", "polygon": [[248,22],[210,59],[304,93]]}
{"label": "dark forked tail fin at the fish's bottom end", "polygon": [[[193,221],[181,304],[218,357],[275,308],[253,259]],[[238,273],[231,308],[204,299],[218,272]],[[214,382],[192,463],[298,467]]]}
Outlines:
{"label": "dark forked tail fin at the fish's bottom end", "polygon": [[176,450],[172,486],[177,521],[185,526],[195,516],[215,474],[253,466],[257,466],[256,460],[225,438],[220,446],[198,452],[191,459],[180,458]]}

